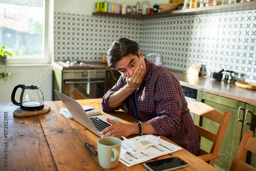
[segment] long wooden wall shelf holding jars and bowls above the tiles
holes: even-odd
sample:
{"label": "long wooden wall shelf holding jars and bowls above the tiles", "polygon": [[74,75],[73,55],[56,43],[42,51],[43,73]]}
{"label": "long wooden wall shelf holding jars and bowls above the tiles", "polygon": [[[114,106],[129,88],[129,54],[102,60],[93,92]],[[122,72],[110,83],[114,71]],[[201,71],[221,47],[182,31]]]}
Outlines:
{"label": "long wooden wall shelf holding jars and bowls above the tiles", "polygon": [[185,9],[185,10],[174,10],[169,12],[161,12],[161,13],[153,13],[153,14],[145,14],[145,15],[113,14],[113,13],[106,13],[106,12],[94,12],[93,15],[131,18],[131,19],[152,19],[152,18],[163,18],[163,17],[195,15],[195,14],[245,11],[245,10],[253,10],[253,9],[256,9],[256,1],[202,7],[202,8],[191,8],[191,9]]}

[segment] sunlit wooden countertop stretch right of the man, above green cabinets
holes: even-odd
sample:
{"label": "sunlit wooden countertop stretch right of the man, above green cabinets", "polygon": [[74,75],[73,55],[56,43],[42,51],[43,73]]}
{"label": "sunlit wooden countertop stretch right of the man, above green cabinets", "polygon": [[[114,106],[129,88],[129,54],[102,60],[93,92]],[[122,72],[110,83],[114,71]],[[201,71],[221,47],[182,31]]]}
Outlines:
{"label": "sunlit wooden countertop stretch right of the man, above green cabinets", "polygon": [[213,81],[208,76],[189,78],[186,72],[169,70],[180,81],[181,86],[256,105],[256,90],[243,89],[235,83]]}

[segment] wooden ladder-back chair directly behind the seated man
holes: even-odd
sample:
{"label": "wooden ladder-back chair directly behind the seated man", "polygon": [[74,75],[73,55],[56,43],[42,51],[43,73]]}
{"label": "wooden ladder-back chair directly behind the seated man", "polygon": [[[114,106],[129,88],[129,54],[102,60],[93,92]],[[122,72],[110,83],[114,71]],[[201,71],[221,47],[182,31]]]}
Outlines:
{"label": "wooden ladder-back chair directly behind the seated man", "polygon": [[218,153],[218,151],[224,137],[231,113],[225,112],[223,114],[220,111],[212,108],[211,106],[198,101],[187,100],[187,103],[190,112],[193,112],[201,117],[210,119],[220,124],[216,134],[204,129],[200,125],[195,124],[199,138],[204,137],[213,142],[209,153],[200,147],[198,157],[201,158],[203,161],[208,162],[210,165],[215,166],[215,159],[221,158],[221,154]]}

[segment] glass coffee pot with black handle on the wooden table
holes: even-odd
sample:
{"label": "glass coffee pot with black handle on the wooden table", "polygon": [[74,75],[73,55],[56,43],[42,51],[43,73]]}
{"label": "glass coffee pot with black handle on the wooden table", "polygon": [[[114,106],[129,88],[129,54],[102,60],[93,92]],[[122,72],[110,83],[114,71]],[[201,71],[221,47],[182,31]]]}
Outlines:
{"label": "glass coffee pot with black handle on the wooden table", "polygon": [[[15,93],[18,88],[22,88],[19,102],[15,100]],[[19,105],[21,109],[28,111],[43,109],[45,103],[44,95],[42,94],[40,86],[25,86],[24,84],[18,84],[14,87],[11,100],[13,104]]]}

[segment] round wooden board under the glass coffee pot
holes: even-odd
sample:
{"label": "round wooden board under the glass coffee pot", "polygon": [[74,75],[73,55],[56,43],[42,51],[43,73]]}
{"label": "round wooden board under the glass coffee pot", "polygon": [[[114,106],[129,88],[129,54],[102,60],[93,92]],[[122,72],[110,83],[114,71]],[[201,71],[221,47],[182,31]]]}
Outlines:
{"label": "round wooden board under the glass coffee pot", "polygon": [[36,115],[47,113],[48,111],[50,111],[50,108],[51,107],[49,105],[45,105],[43,109],[40,109],[37,111],[27,111],[24,109],[20,109],[20,107],[19,107],[13,112],[13,116],[18,117],[18,118],[26,118],[26,117],[36,116]]}

